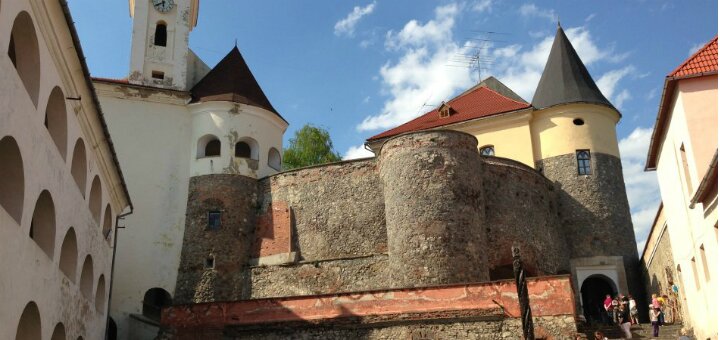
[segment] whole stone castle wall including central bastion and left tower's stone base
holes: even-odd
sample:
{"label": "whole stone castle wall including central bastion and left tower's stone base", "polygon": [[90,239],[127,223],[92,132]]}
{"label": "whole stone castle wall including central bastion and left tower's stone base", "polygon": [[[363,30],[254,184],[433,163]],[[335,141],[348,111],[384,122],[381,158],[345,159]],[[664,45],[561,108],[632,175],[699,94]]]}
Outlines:
{"label": "whole stone castle wall including central bastion and left tower's stone base", "polygon": [[[509,278],[513,243],[531,275],[567,270],[553,184],[478,155],[476,143],[455,131],[416,133],[388,142],[378,159],[259,181],[193,177],[174,301]],[[207,230],[207,212],[218,209],[221,230]],[[211,254],[216,268],[204,268]]]}

